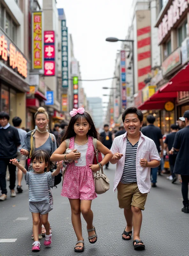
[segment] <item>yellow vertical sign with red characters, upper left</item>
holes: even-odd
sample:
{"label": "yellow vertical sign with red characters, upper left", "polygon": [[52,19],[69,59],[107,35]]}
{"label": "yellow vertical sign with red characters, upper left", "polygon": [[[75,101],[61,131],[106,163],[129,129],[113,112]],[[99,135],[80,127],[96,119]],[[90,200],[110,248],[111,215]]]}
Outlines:
{"label": "yellow vertical sign with red characters, upper left", "polygon": [[32,68],[42,69],[42,12],[32,13]]}

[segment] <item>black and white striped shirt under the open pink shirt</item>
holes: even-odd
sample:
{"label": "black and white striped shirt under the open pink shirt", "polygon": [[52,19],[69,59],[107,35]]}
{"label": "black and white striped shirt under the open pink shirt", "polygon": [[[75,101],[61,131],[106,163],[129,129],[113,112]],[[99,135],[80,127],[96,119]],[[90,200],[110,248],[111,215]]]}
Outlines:
{"label": "black and white striped shirt under the open pink shirt", "polygon": [[137,182],[136,176],[136,154],[139,142],[134,146],[127,139],[127,147],[125,153],[125,165],[123,174],[121,177],[121,183],[133,183]]}

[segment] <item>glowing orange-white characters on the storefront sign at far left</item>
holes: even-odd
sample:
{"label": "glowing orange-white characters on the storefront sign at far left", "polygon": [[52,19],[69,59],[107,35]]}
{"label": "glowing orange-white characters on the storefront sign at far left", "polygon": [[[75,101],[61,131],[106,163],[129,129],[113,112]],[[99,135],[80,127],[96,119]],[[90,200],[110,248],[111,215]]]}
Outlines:
{"label": "glowing orange-white characters on the storefront sign at far left", "polygon": [[0,58],[5,61],[7,66],[18,72],[20,76],[27,77],[27,60],[2,33],[0,34]]}

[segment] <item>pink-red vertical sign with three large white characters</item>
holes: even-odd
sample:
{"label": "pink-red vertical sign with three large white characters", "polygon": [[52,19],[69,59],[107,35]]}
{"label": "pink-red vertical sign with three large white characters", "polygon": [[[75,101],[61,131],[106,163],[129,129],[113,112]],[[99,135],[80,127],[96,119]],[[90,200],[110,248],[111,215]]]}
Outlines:
{"label": "pink-red vertical sign with three large white characters", "polygon": [[55,76],[55,31],[44,31],[44,75]]}

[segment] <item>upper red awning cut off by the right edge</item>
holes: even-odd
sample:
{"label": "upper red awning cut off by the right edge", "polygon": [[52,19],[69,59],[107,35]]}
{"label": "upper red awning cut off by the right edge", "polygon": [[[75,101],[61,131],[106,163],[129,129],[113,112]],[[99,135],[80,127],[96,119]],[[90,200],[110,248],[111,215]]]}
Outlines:
{"label": "upper red awning cut off by the right edge", "polygon": [[189,64],[182,68],[169,83],[160,88],[160,92],[187,92],[189,91]]}

